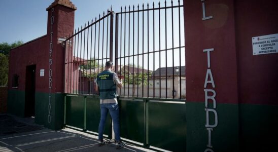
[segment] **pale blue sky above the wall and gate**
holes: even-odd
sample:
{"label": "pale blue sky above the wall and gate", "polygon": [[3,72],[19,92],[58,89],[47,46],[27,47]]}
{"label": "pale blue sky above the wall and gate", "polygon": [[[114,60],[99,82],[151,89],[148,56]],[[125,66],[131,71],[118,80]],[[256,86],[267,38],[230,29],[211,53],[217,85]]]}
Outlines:
{"label": "pale blue sky above the wall and gate", "polygon": [[[130,5],[132,7],[132,5],[135,5],[136,8],[137,5],[139,4],[140,8],[142,8],[142,4],[144,3],[146,8],[147,3],[150,3],[150,5],[152,6],[152,3],[154,2],[155,6],[158,7],[158,2],[159,2],[158,0],[152,0],[152,1],[71,0],[71,1],[77,7],[77,10],[75,12],[75,28],[81,27],[81,25],[84,26],[84,24],[87,23],[88,21],[91,21],[91,19],[94,20],[94,18],[98,17],[99,14],[103,14],[103,11],[107,12],[107,9],[110,9],[111,6],[114,12],[120,12],[120,8],[124,6]],[[37,37],[45,35],[47,32],[46,8],[48,8],[48,6],[50,6],[52,2],[54,2],[54,0],[24,0],[24,1],[1,0],[0,1],[0,43],[3,42],[13,43],[16,41],[23,41],[24,43],[26,43],[28,41],[36,39]],[[170,5],[170,0],[167,0],[167,6],[169,5]],[[178,5],[178,0],[173,1],[173,5],[174,6]],[[164,6],[164,1],[161,1],[161,6],[162,7]],[[168,30],[168,32],[170,32],[170,30]],[[174,33],[177,33],[176,28]],[[163,32],[161,34],[163,34]],[[168,33],[168,35],[170,35],[170,33]],[[184,37],[184,35],[182,35],[182,37]],[[182,42],[184,42],[184,39],[182,40]],[[157,44],[158,43],[156,39],[155,50],[157,50]],[[171,47],[169,44],[171,44],[170,42],[168,43],[168,46]],[[174,46],[177,46],[177,41],[175,41]],[[184,44],[182,46],[184,46]],[[150,48],[152,48],[152,46],[150,46]],[[169,54],[171,53],[169,52]],[[184,53],[182,55],[185,56]],[[153,58],[153,56],[150,56],[150,58]],[[171,57],[167,59],[168,63],[172,62],[170,58]],[[165,60],[165,57],[162,56],[161,60],[162,61]],[[175,60],[175,66],[179,65],[178,63],[179,63],[178,60]],[[148,63],[145,64],[147,65]],[[185,63],[182,65],[185,65]],[[150,68],[153,69],[153,66]],[[155,68],[157,68],[157,66]]]}

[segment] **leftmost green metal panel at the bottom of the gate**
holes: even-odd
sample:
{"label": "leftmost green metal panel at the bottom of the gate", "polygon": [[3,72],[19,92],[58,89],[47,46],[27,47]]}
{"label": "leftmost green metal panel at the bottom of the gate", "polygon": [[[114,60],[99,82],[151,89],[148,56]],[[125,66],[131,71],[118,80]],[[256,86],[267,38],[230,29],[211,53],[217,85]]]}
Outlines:
{"label": "leftmost green metal panel at the bottom of the gate", "polygon": [[84,129],[84,103],[84,96],[66,96],[66,125]]}

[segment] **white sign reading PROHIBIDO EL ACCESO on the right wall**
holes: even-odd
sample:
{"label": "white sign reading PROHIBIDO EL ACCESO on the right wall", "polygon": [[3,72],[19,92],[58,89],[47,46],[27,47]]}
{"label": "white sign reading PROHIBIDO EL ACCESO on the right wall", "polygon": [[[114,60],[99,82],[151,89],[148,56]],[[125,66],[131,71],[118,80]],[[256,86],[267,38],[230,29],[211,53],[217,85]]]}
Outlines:
{"label": "white sign reading PROHIBIDO EL ACCESO on the right wall", "polygon": [[278,33],[252,37],[253,55],[278,53]]}

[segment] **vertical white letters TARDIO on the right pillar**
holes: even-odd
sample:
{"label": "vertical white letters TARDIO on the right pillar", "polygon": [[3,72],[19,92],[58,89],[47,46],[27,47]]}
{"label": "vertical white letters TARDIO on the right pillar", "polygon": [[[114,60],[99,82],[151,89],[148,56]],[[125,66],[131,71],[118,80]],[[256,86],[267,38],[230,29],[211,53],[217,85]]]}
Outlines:
{"label": "vertical white letters TARDIO on the right pillar", "polygon": [[[204,4],[203,4],[204,6]],[[204,7],[203,7],[204,9]],[[208,138],[208,143],[206,144],[207,148],[204,150],[204,152],[214,152],[213,145],[212,145],[212,131],[213,128],[217,127],[218,125],[218,115],[217,115],[217,111],[216,111],[216,91],[214,89],[207,89],[207,86],[209,84],[212,85],[213,88],[215,88],[215,82],[213,79],[213,73],[212,73],[212,69],[211,69],[211,54],[210,52],[214,51],[214,49],[204,49],[203,52],[206,52],[206,56],[207,56],[207,69],[206,69],[206,74],[205,74],[205,80],[204,80],[204,99],[205,99],[205,116],[206,116],[206,123],[205,123],[205,127],[206,130],[209,134],[209,138]],[[213,106],[209,106],[209,100],[213,101]],[[212,108],[211,108],[212,107]],[[210,118],[213,118],[212,116],[210,117],[210,115],[214,116],[214,124],[211,121],[212,124],[210,124]]]}

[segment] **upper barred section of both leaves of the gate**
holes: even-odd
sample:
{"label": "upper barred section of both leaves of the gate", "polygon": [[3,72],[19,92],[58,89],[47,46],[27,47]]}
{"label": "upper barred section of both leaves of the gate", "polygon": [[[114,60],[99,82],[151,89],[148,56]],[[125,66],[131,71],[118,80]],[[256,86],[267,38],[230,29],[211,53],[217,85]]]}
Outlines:
{"label": "upper barred section of both leaves of the gate", "polygon": [[112,9],[68,36],[65,93],[97,95],[96,75],[112,60],[123,80],[119,96],[185,98],[183,5],[175,3],[121,8],[116,13],[115,50]]}

